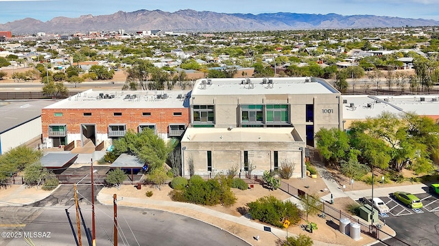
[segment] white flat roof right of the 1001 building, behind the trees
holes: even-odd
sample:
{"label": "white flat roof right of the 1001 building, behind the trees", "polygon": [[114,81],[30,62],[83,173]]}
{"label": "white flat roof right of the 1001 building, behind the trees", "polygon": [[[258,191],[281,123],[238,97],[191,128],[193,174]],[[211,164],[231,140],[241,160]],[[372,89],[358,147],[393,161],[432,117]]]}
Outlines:
{"label": "white flat roof right of the 1001 building, behind the trees", "polygon": [[[384,111],[390,113],[416,113],[439,116],[439,95],[368,96],[343,95],[343,118],[346,120],[377,117]],[[351,107],[353,103],[353,107]]]}

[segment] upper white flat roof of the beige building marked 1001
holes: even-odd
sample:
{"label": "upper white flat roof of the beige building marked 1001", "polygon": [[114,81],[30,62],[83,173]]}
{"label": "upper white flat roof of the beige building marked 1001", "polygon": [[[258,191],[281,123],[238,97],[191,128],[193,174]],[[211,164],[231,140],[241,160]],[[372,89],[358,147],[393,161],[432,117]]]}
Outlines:
{"label": "upper white flat roof of the beige building marked 1001", "polygon": [[[271,83],[272,82],[272,83]],[[324,79],[311,77],[198,79],[196,95],[340,94]]]}

